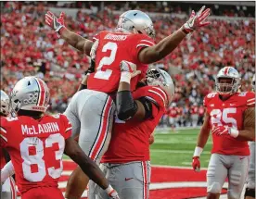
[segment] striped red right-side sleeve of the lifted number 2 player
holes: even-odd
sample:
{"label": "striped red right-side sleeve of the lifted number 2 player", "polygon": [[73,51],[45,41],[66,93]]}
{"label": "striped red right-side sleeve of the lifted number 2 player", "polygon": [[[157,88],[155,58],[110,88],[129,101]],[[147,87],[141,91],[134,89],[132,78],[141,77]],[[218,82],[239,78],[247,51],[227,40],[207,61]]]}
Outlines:
{"label": "striped red right-side sleeve of the lifted number 2 player", "polygon": [[133,56],[135,59],[138,57],[138,53],[142,48],[150,47],[155,45],[155,42],[153,39],[148,37],[145,34],[134,34],[133,41],[131,44],[131,51],[133,52]]}

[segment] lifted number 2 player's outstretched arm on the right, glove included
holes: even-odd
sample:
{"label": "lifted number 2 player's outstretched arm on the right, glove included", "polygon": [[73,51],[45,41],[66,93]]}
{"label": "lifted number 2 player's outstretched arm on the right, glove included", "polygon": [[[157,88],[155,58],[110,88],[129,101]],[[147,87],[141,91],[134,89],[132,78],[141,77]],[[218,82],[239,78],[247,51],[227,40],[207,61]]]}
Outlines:
{"label": "lifted number 2 player's outstretched arm on the right, glove included", "polygon": [[178,31],[174,31],[172,35],[161,40],[159,44],[143,48],[138,54],[139,61],[144,64],[159,61],[172,53],[188,33],[209,25],[210,22],[205,22],[205,19],[210,15],[210,8],[204,9],[205,6],[202,6],[197,14],[192,13],[190,19]]}

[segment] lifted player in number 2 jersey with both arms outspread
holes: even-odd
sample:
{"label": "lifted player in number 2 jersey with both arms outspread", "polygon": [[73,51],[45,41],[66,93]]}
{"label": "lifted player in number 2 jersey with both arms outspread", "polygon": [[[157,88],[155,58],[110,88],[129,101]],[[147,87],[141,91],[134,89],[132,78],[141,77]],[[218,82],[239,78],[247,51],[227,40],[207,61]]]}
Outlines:
{"label": "lifted player in number 2 jersey with both arms outspread", "polygon": [[[209,25],[210,22],[205,21],[209,15],[210,9],[205,9],[203,6],[197,14],[192,12],[190,19],[178,31],[159,44],[155,44],[152,20],[139,10],[123,13],[116,31],[100,31],[93,41],[69,31],[64,25],[64,13],[61,13],[58,19],[51,12],[45,14],[47,25],[57,31],[68,44],[91,56],[95,61],[96,70],[87,73],[87,90],[83,94],[77,93],[65,111],[74,128],[73,132],[80,130],[79,144],[86,155],[97,162],[108,148],[115,111],[113,100],[121,78],[121,61],[134,63],[141,71],[140,75],[131,79],[131,91],[134,91],[137,82],[145,78],[147,64],[156,62],[173,52],[186,34]],[[93,47],[93,42],[96,47]],[[129,75],[130,73],[123,74],[122,78],[129,79],[131,78]],[[73,175],[76,178],[79,176],[73,173],[70,179]],[[66,197],[80,198],[80,194],[71,192],[78,190],[82,184],[78,180],[76,184],[68,183]],[[81,187],[81,193],[83,189],[84,187]]]}

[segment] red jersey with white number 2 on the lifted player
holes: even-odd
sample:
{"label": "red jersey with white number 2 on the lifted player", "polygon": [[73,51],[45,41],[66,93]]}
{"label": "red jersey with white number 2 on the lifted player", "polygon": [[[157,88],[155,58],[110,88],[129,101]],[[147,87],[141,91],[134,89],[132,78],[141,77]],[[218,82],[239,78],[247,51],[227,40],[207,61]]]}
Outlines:
{"label": "red jersey with white number 2 on the lifted player", "polygon": [[131,81],[134,91],[138,81],[145,77],[147,65],[142,64],[137,56],[139,51],[154,45],[154,41],[145,34],[129,34],[115,31],[100,31],[94,40],[99,44],[96,50],[96,71],[87,81],[88,89],[103,93],[115,93],[121,76],[120,63],[126,60],[134,63],[142,73]]}

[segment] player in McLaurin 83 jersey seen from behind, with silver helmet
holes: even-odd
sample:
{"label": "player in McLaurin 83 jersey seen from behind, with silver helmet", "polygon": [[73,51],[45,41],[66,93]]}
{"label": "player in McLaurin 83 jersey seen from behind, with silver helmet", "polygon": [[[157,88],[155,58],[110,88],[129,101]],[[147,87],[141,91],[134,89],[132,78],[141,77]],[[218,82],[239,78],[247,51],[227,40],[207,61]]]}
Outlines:
{"label": "player in McLaurin 83 jersey seen from behind, with silver helmet", "polygon": [[[96,163],[70,138],[72,128],[66,116],[45,115],[48,102],[45,81],[25,77],[11,93],[11,106],[17,117],[1,118],[1,147],[7,149],[12,159],[6,171],[11,173],[9,168],[14,168],[21,198],[64,198],[58,190],[63,153],[96,181],[109,198],[119,198]],[[1,170],[1,182],[5,175],[5,169]]]}

